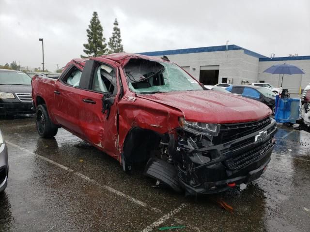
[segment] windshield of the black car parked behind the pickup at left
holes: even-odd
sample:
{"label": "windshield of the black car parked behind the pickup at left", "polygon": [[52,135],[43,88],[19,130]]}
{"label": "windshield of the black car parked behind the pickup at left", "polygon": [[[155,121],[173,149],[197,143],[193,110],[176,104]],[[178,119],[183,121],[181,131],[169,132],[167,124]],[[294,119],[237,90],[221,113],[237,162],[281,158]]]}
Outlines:
{"label": "windshield of the black car parked behind the pickup at left", "polygon": [[26,73],[0,72],[0,85],[31,85],[31,77]]}

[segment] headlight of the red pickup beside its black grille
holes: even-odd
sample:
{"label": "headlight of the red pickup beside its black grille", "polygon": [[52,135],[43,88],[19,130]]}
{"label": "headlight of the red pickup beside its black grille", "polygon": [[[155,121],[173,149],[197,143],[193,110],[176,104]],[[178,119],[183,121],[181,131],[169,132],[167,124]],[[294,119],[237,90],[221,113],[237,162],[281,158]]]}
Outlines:
{"label": "headlight of the red pickup beside its black grille", "polygon": [[184,117],[179,118],[179,124],[185,131],[208,136],[217,136],[220,129],[219,124],[190,122],[186,121]]}

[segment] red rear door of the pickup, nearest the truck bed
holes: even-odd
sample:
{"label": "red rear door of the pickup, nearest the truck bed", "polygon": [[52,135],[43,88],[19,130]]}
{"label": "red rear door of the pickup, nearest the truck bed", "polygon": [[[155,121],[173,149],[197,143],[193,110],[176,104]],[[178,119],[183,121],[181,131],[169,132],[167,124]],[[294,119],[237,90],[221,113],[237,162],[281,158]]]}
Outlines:
{"label": "red rear door of the pickup, nearest the truck bed", "polygon": [[56,121],[68,131],[80,136],[79,127],[79,89],[78,84],[82,71],[77,66],[71,65],[56,81],[52,112]]}

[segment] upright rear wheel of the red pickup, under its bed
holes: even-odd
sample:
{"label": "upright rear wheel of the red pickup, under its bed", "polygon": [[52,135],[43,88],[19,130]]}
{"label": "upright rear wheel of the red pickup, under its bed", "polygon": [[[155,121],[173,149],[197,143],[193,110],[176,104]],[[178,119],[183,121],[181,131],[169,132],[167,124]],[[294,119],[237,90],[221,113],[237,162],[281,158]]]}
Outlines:
{"label": "upright rear wheel of the red pickup, under its bed", "polygon": [[50,120],[45,104],[37,107],[35,122],[38,134],[42,138],[52,138],[57,134],[58,126]]}

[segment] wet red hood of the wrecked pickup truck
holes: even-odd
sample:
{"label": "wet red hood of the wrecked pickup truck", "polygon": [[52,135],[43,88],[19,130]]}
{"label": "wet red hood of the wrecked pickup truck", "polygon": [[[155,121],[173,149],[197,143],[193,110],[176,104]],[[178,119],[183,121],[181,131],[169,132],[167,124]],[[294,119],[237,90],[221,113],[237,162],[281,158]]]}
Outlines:
{"label": "wet red hood of the wrecked pickup truck", "polygon": [[177,108],[188,121],[239,123],[257,121],[272,114],[261,102],[216,91],[173,91],[137,97]]}

